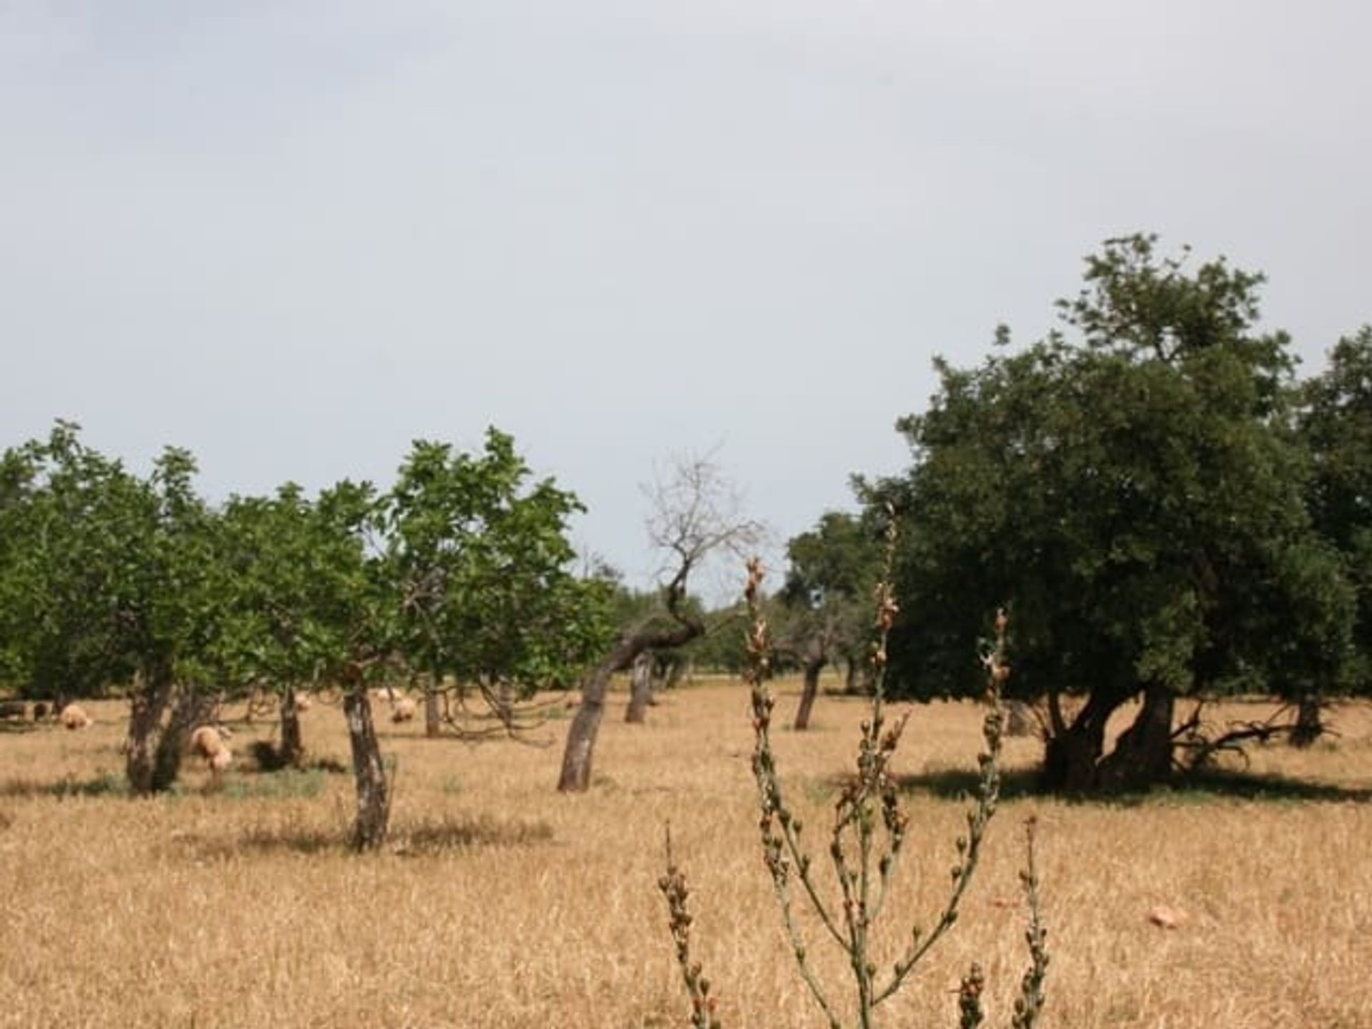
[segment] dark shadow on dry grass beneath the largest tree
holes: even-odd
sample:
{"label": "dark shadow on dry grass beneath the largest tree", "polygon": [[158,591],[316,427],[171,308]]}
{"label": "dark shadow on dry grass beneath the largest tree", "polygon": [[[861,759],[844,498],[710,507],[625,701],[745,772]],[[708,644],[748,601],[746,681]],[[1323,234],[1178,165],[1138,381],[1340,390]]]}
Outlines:
{"label": "dark shadow on dry grass beneath the largest tree", "polygon": [[[918,775],[903,775],[901,790],[927,793],[945,800],[970,797],[977,790],[977,772],[967,768],[937,768]],[[1195,771],[1179,775],[1150,790],[1104,794],[1054,794],[1039,783],[1036,768],[1008,768],[1000,772],[1002,800],[1056,796],[1070,804],[1100,804],[1136,807],[1140,804],[1206,804],[1214,800],[1238,799],[1273,803],[1367,803],[1372,788],[1340,786],[1329,782],[1294,779],[1273,772],[1244,772],[1225,770]]]}

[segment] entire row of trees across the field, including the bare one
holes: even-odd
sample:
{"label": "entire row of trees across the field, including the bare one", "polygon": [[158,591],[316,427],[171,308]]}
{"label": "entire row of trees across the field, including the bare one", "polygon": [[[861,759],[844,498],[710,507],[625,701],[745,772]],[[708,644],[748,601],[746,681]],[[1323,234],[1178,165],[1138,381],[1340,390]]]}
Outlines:
{"label": "entire row of trees across the field, including the bare one", "polygon": [[[1262,281],[1163,257],[1151,236],[1109,240],[1058,331],[1017,347],[1002,328],[981,364],[938,361],[936,394],[897,423],[908,469],[856,479],[859,510],[788,543],[766,617],[771,667],[803,676],[794,729],[825,668],[870,686],[892,514],[889,693],[978,696],[978,652],[1008,608],[1011,691],[1039,713],[1051,789],[1135,789],[1247,740],[1308,742],[1329,701],[1365,696],[1372,328],[1298,379],[1290,338],[1259,328]],[[575,571],[576,497],[534,482],[497,429],[479,453],[416,442],[386,490],[287,483],[211,505],[195,471],[169,447],[134,475],[62,421],[0,457],[0,683],[58,707],[128,697],[136,793],[176,779],[221,698],[274,698],[281,759],[298,763],[296,697],[327,687],[353,745],[354,842],[376,847],[370,685],[418,690],[431,734],[514,731],[534,690],[579,686],[558,786],[582,790],[612,676],[632,676],[637,722],[654,686],[744,661],[738,606],[689,591],[704,561],[759,539],[708,461],[648,491],[664,558],[648,591]],[[1235,694],[1284,700],[1290,718],[1207,724],[1205,702]]]}

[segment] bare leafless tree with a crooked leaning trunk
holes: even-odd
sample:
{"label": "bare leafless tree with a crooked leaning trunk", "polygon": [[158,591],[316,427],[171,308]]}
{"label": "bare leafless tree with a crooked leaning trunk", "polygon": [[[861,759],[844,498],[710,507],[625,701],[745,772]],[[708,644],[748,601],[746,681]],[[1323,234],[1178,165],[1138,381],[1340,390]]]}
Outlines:
{"label": "bare leafless tree with a crooked leaning trunk", "polygon": [[738,554],[760,536],[759,524],[741,516],[738,497],[708,460],[679,461],[672,477],[659,482],[648,495],[652,506],[649,539],[667,560],[660,608],[626,627],[587,674],[582,702],[567,733],[557,782],[561,792],[590,788],[591,757],[611,678],[628,671],[643,652],[679,648],[709,631],[700,609],[689,604],[691,572],[712,554]]}

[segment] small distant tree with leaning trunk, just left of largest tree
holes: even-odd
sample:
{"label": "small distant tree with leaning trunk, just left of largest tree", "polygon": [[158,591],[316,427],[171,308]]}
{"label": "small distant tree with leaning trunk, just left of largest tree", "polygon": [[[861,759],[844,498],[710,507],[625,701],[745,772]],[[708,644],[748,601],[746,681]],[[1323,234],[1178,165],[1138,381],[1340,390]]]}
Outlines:
{"label": "small distant tree with leaning trunk, just left of largest tree", "polygon": [[815,528],[786,545],[789,568],[778,600],[774,639],[804,675],[794,729],[809,726],[819,674],[845,660],[849,679],[862,668],[870,637],[870,600],[881,569],[877,530],[860,516],[826,512]]}

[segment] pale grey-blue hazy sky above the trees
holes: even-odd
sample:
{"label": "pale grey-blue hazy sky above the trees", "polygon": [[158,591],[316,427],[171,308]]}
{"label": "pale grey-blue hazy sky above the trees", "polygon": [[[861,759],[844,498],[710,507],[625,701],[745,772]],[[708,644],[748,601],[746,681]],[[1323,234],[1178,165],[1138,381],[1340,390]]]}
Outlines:
{"label": "pale grey-blue hazy sky above the trees", "polygon": [[211,498],[513,434],[648,584],[711,456],[775,541],[908,464],[934,355],[1110,236],[1372,321],[1362,0],[0,0],[0,446]]}

